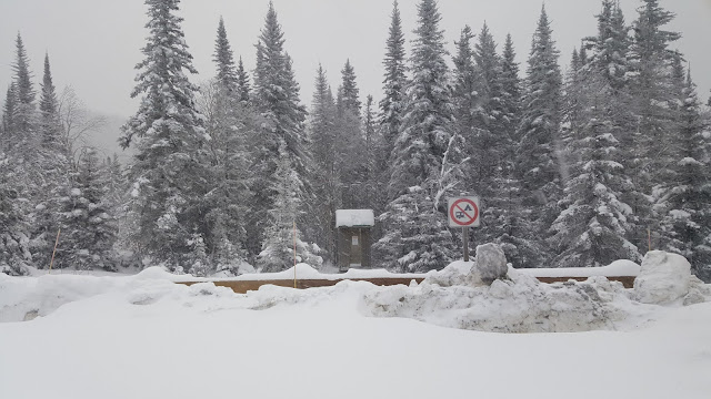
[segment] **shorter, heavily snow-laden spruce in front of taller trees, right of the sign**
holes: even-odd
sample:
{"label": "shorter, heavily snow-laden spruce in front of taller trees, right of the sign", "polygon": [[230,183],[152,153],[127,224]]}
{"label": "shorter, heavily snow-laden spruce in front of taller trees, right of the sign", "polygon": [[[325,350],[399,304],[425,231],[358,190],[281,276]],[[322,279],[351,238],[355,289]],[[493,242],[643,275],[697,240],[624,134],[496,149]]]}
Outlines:
{"label": "shorter, heavily snow-laden spruce in front of taller trees, right of the sign", "polygon": [[640,260],[637,246],[625,237],[630,232],[632,208],[622,193],[631,188],[624,174],[615,137],[619,127],[604,116],[609,100],[604,79],[591,74],[585,79],[588,94],[582,104],[582,120],[570,143],[575,155],[565,182],[565,208],[553,223],[551,245],[559,267],[604,266],[615,259]]}

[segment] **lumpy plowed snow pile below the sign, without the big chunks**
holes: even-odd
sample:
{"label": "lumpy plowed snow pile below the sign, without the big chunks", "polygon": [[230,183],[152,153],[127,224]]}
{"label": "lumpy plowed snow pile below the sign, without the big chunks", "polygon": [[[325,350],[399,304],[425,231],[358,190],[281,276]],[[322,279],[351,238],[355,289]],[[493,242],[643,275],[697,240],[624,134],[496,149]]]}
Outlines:
{"label": "lumpy plowed snow pile below the sign, without the big chunks", "polygon": [[463,266],[445,268],[445,273],[417,287],[365,293],[365,305],[372,316],[408,317],[443,327],[493,332],[618,329],[621,321],[643,313],[635,309],[621,283],[605,277],[548,285],[510,268],[509,279],[495,279],[491,286],[432,283],[471,280],[460,274]]}

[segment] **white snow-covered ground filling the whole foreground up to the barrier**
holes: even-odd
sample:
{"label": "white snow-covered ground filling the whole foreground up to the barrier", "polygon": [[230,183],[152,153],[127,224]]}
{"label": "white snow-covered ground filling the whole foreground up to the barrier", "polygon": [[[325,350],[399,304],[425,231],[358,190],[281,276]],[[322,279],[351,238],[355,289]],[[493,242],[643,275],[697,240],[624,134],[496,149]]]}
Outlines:
{"label": "white snow-covered ground filling the whole foreground up to the barrier", "polygon": [[[602,277],[489,286],[471,267],[247,295],[159,268],[0,274],[0,398],[711,397],[708,285],[660,306]],[[589,331],[485,332],[547,329]]]}

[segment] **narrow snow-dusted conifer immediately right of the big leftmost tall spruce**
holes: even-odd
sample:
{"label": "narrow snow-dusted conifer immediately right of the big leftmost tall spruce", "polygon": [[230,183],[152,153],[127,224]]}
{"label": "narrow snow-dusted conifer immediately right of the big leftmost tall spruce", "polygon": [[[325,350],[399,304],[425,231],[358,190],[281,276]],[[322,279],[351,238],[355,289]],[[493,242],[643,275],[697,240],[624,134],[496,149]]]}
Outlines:
{"label": "narrow snow-dusted conifer immediately right of the big leftmost tall spruce", "polygon": [[[247,225],[252,205],[248,141],[257,134],[260,121],[241,99],[239,73],[224,31],[221,23],[213,57],[217,74],[203,88],[200,99],[211,137],[204,160],[209,165],[203,203],[207,226],[204,233],[194,232],[190,238],[196,254],[191,263],[198,265],[191,269],[237,275],[248,258]],[[209,253],[209,258],[202,259],[203,253]]]}

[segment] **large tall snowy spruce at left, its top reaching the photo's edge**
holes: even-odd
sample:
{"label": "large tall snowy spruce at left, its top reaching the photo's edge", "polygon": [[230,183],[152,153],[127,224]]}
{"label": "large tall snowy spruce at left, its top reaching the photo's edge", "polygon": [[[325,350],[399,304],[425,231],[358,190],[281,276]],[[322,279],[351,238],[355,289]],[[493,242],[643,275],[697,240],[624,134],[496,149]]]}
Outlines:
{"label": "large tall snowy spruce at left, its top reaching the photo's edge", "polygon": [[139,253],[171,268],[191,257],[188,241],[203,229],[200,201],[207,173],[199,162],[207,140],[203,116],[196,110],[198,88],[186,72],[197,73],[176,13],[179,0],[147,0],[150,34],[142,49],[132,98],[138,112],[122,127],[121,145],[136,145],[130,168],[132,242]]}

